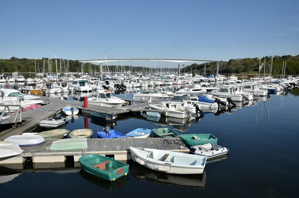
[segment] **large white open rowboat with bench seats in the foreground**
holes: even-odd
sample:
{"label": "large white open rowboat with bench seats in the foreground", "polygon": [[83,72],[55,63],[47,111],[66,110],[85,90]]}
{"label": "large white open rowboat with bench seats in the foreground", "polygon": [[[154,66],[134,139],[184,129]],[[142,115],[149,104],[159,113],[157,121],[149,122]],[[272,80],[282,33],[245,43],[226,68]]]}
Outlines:
{"label": "large white open rowboat with bench seats in the foreground", "polygon": [[153,171],[170,174],[202,174],[207,157],[130,146],[134,162]]}

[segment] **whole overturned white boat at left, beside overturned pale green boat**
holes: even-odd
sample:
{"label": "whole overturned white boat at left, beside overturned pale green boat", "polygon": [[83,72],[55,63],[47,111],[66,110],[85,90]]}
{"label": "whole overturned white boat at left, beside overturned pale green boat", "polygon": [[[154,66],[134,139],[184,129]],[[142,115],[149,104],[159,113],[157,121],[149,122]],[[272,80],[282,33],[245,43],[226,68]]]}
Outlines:
{"label": "whole overturned white boat at left, beside overturned pale green boat", "polygon": [[10,136],[4,141],[14,142],[19,146],[33,146],[45,142],[45,139],[39,135],[17,135]]}

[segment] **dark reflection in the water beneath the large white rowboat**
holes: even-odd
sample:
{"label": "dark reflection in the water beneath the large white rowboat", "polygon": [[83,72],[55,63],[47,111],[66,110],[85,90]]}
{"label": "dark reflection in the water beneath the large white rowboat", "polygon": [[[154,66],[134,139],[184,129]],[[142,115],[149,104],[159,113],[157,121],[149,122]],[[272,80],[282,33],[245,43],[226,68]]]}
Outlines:
{"label": "dark reflection in the water beneath the large white rowboat", "polygon": [[147,182],[203,189],[207,179],[205,171],[200,175],[172,175],[149,170],[134,162],[129,164],[130,175],[134,178]]}

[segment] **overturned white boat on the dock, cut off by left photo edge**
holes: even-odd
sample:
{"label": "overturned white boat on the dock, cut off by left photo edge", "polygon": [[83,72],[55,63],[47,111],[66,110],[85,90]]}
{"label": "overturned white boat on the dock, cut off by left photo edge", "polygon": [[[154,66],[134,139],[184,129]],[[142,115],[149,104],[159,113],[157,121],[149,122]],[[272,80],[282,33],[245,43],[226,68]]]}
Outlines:
{"label": "overturned white boat on the dock, cut off by left photo edge", "polygon": [[24,151],[16,143],[0,141],[0,161],[20,155],[22,152]]}

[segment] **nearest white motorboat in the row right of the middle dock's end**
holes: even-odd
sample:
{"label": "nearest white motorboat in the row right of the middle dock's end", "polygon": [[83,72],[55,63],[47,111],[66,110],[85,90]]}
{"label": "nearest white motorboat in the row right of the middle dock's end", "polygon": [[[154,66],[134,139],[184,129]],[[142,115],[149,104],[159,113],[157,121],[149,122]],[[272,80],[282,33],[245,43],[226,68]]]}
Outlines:
{"label": "nearest white motorboat in the row right of the middle dock's end", "polygon": [[170,101],[161,102],[158,104],[149,104],[151,109],[162,110],[163,116],[173,117],[173,118],[186,118],[188,116],[196,116],[196,108],[188,107],[187,105],[175,104]]}

